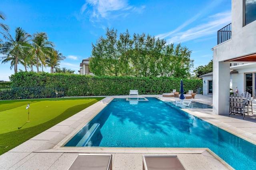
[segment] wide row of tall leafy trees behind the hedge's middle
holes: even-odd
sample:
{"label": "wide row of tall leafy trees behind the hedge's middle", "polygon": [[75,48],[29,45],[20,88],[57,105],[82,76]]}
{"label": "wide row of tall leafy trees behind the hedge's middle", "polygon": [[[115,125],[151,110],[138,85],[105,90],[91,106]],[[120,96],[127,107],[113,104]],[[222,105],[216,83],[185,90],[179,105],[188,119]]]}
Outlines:
{"label": "wide row of tall leafy trees behind the hedge's middle", "polygon": [[190,51],[181,44],[166,44],[145,33],[130,35],[128,30],[117,35],[117,30],[107,29],[92,44],[90,71],[98,76],[180,77],[190,76],[194,60]]}

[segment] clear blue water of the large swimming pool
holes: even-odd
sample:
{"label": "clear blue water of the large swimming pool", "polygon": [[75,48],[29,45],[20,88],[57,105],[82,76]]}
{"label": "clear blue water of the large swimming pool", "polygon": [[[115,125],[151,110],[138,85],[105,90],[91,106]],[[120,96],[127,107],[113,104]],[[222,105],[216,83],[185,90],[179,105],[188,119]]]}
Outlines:
{"label": "clear blue water of the large swimming pool", "polygon": [[65,146],[209,148],[237,170],[256,169],[256,145],[170,103],[148,100],[114,99]]}

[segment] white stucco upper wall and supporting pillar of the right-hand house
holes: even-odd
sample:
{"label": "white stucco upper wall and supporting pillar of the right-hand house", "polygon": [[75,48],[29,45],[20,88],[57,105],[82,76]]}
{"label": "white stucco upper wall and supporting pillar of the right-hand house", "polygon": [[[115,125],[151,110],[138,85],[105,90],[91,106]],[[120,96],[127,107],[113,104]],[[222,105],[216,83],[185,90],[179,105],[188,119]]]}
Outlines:
{"label": "white stucco upper wall and supporting pillar of the right-hand house", "polygon": [[256,52],[256,21],[243,27],[243,0],[232,0],[232,38],[213,48],[213,112],[228,115],[228,59]]}

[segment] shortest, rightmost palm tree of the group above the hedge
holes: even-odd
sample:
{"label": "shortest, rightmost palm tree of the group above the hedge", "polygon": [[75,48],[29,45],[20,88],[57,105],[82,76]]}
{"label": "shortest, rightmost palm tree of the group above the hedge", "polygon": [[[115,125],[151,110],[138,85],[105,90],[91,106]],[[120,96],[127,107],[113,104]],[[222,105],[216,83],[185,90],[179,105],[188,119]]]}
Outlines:
{"label": "shortest, rightmost palm tree of the group above the hedge", "polygon": [[66,57],[63,56],[62,53],[59,53],[57,50],[52,51],[46,60],[47,65],[51,68],[51,73],[53,73],[54,68],[60,66],[60,61],[64,59],[66,59]]}

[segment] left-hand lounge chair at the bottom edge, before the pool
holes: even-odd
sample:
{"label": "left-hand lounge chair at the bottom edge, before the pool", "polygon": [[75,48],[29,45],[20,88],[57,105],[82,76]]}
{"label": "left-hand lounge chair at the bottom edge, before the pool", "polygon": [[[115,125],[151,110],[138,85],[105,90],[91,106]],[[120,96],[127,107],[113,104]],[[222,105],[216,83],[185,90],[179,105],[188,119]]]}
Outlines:
{"label": "left-hand lounge chair at the bottom edge, before the pool", "polygon": [[112,170],[112,154],[78,154],[68,170]]}

